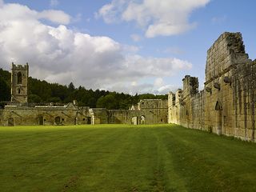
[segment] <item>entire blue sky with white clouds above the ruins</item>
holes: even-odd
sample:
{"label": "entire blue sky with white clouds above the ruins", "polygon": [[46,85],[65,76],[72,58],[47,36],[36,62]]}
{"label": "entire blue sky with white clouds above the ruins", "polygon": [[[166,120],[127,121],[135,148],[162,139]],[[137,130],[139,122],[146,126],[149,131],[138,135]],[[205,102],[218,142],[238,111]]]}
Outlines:
{"label": "entire blue sky with white clouds above the ruins", "polygon": [[0,0],[0,68],[86,89],[166,94],[205,81],[206,51],[225,31],[256,53],[254,0]]}

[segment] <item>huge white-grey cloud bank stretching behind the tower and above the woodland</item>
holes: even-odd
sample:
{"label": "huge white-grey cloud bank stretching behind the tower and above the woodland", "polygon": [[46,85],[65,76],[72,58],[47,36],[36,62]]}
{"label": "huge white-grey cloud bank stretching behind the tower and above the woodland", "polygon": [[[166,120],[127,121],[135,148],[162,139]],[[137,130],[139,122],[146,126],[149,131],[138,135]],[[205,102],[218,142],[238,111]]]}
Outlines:
{"label": "huge white-grey cloud bank stretching behind the tower and above the woodland", "polygon": [[[122,45],[112,38],[91,36],[64,25],[48,26],[41,18],[65,14],[51,11],[40,13],[18,4],[0,8],[0,63],[4,69],[10,69],[12,61],[29,62],[30,75],[35,78],[141,93],[166,86],[164,82],[158,86],[146,83],[145,79],[170,77],[192,66],[178,58],[142,57],[136,54],[138,47]],[[62,16],[49,19],[68,22]]]}

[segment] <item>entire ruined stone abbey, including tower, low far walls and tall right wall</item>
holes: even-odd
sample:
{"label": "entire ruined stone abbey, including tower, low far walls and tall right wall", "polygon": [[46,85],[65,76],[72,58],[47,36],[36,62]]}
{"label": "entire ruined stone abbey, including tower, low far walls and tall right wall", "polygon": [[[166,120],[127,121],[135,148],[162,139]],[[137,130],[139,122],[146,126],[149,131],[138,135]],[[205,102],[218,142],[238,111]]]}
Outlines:
{"label": "entire ruined stone abbey, including tower, low far walls and tall right wall", "polygon": [[[176,123],[255,141],[256,61],[246,54],[240,33],[224,33],[207,52],[206,82],[186,75],[183,89],[170,92],[168,101],[145,99],[130,110],[90,109],[27,104],[29,66],[12,66],[11,102],[0,110],[0,125],[77,125],[100,123]],[[1,94],[1,93],[0,93]]]}

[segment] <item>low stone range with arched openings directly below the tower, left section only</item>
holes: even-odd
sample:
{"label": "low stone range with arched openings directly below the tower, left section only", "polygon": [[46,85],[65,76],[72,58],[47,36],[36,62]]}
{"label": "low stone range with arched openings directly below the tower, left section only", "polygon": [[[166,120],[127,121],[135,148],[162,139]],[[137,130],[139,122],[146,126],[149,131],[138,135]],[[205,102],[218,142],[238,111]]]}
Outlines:
{"label": "low stone range with arched openings directly below the tower, left section only", "polygon": [[88,107],[6,106],[2,110],[2,126],[76,125],[89,123]]}

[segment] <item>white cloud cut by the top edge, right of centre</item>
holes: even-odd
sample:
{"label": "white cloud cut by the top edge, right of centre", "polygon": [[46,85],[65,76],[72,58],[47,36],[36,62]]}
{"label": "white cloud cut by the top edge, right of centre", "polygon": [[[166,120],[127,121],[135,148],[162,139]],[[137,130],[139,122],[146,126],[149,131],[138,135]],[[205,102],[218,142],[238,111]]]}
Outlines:
{"label": "white cloud cut by the top edge, right of centre", "polygon": [[98,10],[98,17],[106,23],[134,21],[146,29],[146,37],[154,38],[158,35],[170,36],[181,34],[196,26],[189,22],[190,14],[202,7],[210,0],[112,0]]}

